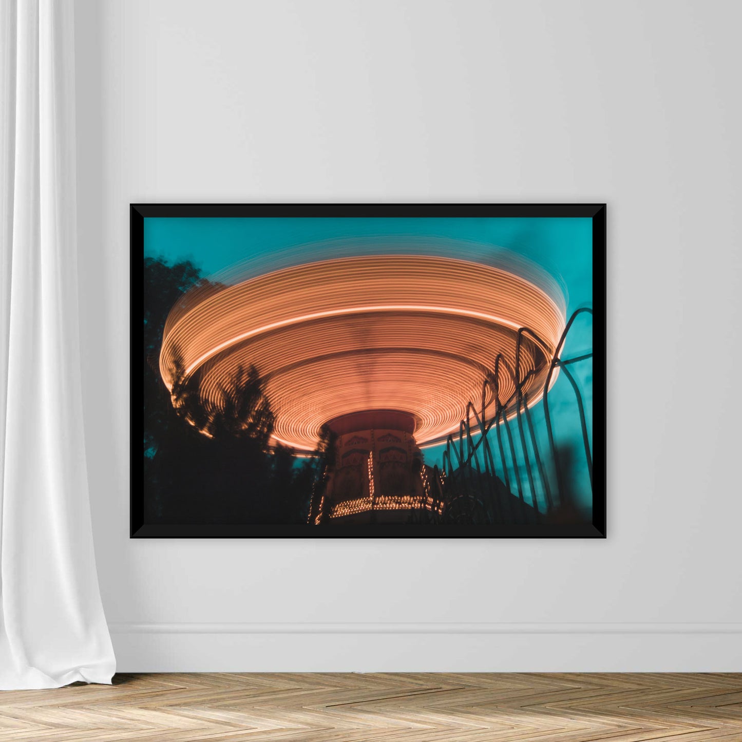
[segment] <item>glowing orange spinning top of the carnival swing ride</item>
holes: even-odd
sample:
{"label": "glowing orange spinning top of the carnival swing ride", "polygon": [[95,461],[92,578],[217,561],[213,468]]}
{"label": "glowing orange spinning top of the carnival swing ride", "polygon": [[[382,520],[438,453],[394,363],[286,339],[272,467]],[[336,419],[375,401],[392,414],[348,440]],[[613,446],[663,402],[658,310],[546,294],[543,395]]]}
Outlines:
{"label": "glowing orange spinning top of the carnival swing ride", "polygon": [[[219,404],[238,366],[255,364],[275,413],[274,441],[315,448],[326,421],[401,410],[418,444],[458,430],[466,404],[501,352],[540,390],[565,326],[559,298],[508,270],[429,255],[366,255],[290,266],[204,291],[173,309],[160,352],[172,387],[176,358]],[[500,398],[514,391],[501,375]],[[536,398],[536,395],[533,395]],[[487,399],[487,405],[493,399]]]}

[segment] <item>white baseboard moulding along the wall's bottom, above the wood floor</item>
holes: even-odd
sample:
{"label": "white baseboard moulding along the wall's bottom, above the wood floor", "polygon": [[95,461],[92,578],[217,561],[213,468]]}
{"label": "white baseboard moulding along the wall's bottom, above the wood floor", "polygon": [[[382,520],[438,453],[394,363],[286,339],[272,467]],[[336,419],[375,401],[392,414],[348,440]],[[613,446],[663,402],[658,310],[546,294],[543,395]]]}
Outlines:
{"label": "white baseboard moulding along the wall's bottom, above the wood floor", "polygon": [[741,672],[742,623],[112,623],[118,672]]}

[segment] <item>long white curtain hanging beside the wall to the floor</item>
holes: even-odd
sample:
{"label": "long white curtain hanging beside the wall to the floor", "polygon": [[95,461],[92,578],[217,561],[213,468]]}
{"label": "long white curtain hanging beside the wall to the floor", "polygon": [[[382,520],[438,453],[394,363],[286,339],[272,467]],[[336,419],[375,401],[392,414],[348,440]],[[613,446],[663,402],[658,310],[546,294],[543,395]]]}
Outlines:
{"label": "long white curtain hanging beside the wall to the floor", "polygon": [[82,429],[72,13],[0,0],[0,689],[115,669]]}

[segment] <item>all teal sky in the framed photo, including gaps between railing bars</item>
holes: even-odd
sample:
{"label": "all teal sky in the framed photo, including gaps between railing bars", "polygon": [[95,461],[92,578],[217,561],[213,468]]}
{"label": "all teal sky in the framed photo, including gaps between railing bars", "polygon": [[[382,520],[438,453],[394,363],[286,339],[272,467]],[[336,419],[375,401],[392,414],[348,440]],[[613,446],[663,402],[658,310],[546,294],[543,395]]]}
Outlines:
{"label": "all teal sky in the framed photo, including gaps between railing bars", "polygon": [[[450,257],[482,263],[516,255],[536,263],[557,280],[567,317],[578,307],[592,306],[592,220],[587,218],[147,217],[144,237],[145,257],[159,257],[171,264],[191,260],[203,275],[243,262],[248,272],[257,275],[330,255],[399,253],[401,245],[404,252],[427,252],[431,243]],[[582,319],[571,332],[565,351],[567,355],[580,355],[591,346],[592,326]],[[591,409],[591,364],[575,364],[572,370]],[[571,441],[581,447],[570,385],[562,376],[549,395],[555,435],[558,441]],[[540,404],[533,413],[541,430]],[[440,464],[442,450],[442,446],[426,449],[425,461]],[[591,502],[586,467],[580,457],[577,461],[580,486],[576,496],[586,507]],[[528,493],[525,496],[528,499]],[[542,499],[542,493],[537,492],[536,497]]]}

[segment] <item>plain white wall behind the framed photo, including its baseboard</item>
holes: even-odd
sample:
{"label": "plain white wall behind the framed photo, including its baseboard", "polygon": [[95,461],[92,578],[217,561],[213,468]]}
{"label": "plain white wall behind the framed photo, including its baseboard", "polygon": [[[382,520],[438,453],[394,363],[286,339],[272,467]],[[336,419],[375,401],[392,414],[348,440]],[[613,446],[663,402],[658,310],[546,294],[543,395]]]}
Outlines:
{"label": "plain white wall behind the framed photo, including its baseboard", "polygon": [[[742,669],[741,7],[78,0],[120,670]],[[607,540],[128,539],[128,203],[297,200],[608,203]]]}

